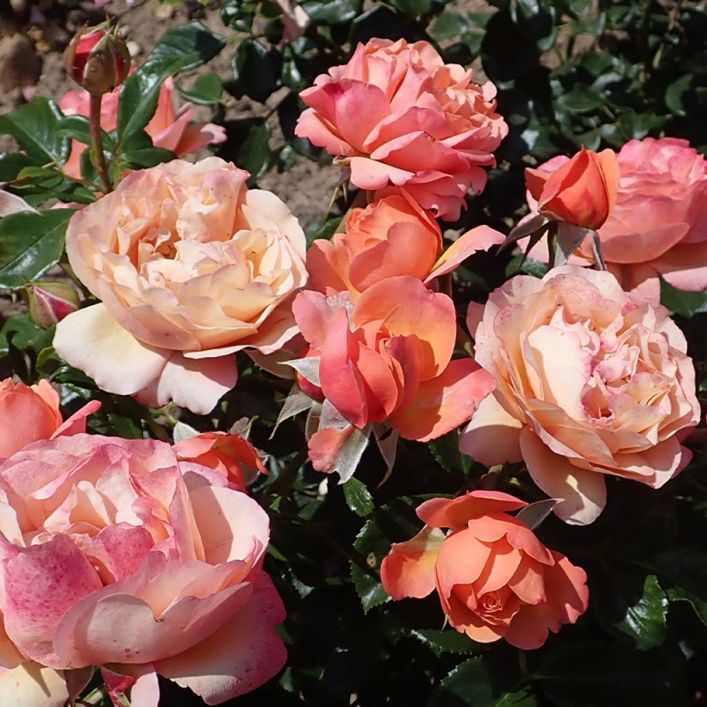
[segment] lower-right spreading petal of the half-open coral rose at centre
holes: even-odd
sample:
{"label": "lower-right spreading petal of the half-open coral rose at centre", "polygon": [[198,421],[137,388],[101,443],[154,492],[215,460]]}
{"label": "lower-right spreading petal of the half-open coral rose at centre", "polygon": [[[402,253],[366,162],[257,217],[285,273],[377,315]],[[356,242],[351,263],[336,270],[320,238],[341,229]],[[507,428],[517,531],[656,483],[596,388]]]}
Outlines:
{"label": "lower-right spreading petal of the half-open coral rose at centre", "polygon": [[450,361],[443,373],[421,382],[409,406],[390,416],[400,436],[428,442],[466,422],[496,387],[496,379],[472,358]]}

